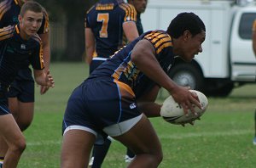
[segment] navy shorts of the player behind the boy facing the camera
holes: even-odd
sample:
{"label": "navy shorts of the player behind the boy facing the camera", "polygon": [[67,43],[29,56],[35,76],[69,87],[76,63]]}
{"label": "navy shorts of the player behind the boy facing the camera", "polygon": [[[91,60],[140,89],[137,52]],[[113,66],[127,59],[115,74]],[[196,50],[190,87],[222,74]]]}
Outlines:
{"label": "navy shorts of the player behind the boy facing the camera", "polygon": [[18,98],[23,103],[35,101],[35,82],[29,68],[19,70],[15,81],[12,82],[9,88],[8,97]]}

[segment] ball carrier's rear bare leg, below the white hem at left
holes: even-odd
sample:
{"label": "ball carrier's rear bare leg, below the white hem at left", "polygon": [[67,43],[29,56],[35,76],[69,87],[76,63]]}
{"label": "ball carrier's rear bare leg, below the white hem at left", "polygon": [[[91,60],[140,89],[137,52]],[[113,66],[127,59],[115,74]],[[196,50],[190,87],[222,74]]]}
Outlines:
{"label": "ball carrier's rear bare leg, below the white hem at left", "polygon": [[84,130],[69,130],[63,135],[61,168],[84,168],[96,136]]}

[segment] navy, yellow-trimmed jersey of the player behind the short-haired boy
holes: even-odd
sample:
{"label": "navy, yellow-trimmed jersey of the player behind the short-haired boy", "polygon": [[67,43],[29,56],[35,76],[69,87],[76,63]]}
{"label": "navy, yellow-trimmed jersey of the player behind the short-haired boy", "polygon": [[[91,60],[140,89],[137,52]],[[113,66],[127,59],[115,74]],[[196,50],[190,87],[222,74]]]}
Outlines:
{"label": "navy, yellow-trimmed jersey of the player behind the short-haired boy", "polygon": [[[20,5],[17,0],[0,0],[0,28],[8,25],[17,25],[20,14]],[[44,18],[38,34],[44,34],[49,31],[49,16],[46,10],[43,10]]]}

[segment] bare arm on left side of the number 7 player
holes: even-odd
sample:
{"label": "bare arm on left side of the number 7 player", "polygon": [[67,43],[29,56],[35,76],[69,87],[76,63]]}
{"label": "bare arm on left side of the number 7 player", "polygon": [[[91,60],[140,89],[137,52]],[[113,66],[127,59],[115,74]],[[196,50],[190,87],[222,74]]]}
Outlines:
{"label": "bare arm on left side of the number 7 player", "polygon": [[85,34],[85,52],[86,52],[86,63],[90,64],[92,55],[95,50],[95,38],[90,28],[84,29]]}

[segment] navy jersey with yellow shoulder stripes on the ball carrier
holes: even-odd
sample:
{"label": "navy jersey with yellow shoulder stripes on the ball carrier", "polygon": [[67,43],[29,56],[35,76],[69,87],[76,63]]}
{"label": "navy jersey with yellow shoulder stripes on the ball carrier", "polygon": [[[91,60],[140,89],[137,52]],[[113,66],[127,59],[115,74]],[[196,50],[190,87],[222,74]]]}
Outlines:
{"label": "navy jersey with yellow shoulder stripes on the ball carrier", "polygon": [[90,74],[89,79],[111,76],[113,79],[124,82],[131,87],[137,97],[142,95],[143,92],[148,90],[148,87],[152,87],[155,84],[154,81],[151,81],[142,71],[137,69],[136,64],[131,61],[132,49],[142,39],[146,39],[153,44],[156,59],[162,69],[168,73],[174,61],[172,38],[166,31],[148,31],[96,68]]}

